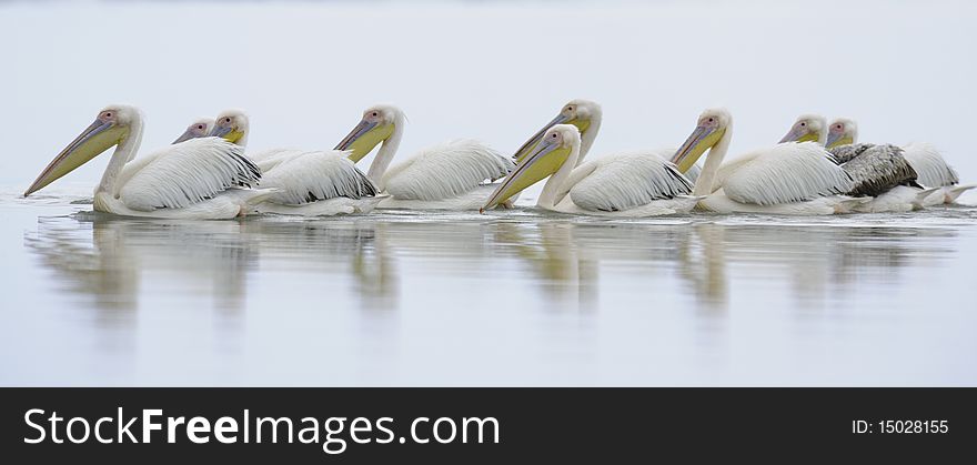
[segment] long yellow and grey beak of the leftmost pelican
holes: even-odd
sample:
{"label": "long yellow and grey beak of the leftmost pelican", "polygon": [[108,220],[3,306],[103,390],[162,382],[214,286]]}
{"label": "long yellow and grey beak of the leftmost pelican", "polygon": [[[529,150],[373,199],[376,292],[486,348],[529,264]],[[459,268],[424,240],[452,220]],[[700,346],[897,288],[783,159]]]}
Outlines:
{"label": "long yellow and grey beak of the leftmost pelican", "polygon": [[41,171],[34,183],[24,191],[28,196],[59,178],[74,171],[78,166],[88,163],[100,153],[109,150],[125,138],[128,130],[117,125],[112,121],[95,120],[81,134],[71,141],[51,163]]}

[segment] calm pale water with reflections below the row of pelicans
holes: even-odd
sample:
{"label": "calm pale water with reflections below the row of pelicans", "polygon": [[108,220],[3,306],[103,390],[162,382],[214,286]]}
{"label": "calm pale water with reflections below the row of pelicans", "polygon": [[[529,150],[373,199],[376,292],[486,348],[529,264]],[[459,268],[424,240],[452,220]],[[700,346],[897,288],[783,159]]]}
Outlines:
{"label": "calm pale water with reflections below the row of pelicans", "polygon": [[974,208],[180,222],[3,192],[3,385],[977,385]]}

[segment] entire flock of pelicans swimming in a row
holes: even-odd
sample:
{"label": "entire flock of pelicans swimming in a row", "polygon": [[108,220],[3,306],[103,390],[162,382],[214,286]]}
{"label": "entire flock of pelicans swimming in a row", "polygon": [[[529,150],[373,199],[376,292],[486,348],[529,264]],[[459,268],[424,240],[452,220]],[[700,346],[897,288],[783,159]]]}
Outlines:
{"label": "entire flock of pelicans swimming in a row", "polygon": [[[110,105],[41,172],[24,196],[112,146],[94,210],[130,216],[229,219],[250,213],[334,215],[374,209],[511,208],[548,178],[536,205],[565,213],[652,216],[722,213],[906,212],[953,203],[975,185],[929,144],[857,142],[855,122],[803,115],[776,145],[724,158],[733,118],[706,110],[677,150],[645,150],[584,163],[601,107],[573,100],[512,158],[472,140],[445,142],[391,166],[404,113],[375,105],[333,150],[246,153],[241,111],[203,119],[165,149],[135,158],[140,111]],[[356,163],[377,148],[366,173]],[[696,162],[708,152],[705,162]]]}

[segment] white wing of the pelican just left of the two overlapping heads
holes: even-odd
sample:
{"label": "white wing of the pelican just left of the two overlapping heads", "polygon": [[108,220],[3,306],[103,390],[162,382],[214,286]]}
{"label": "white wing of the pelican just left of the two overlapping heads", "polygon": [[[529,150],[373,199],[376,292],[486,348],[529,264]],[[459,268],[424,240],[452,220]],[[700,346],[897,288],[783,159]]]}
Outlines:
{"label": "white wing of the pelican just left of the two overlapping heads", "polygon": [[512,160],[472,140],[457,140],[422,150],[383,176],[384,189],[397,199],[443,200],[461,195],[484,181],[504,178]]}

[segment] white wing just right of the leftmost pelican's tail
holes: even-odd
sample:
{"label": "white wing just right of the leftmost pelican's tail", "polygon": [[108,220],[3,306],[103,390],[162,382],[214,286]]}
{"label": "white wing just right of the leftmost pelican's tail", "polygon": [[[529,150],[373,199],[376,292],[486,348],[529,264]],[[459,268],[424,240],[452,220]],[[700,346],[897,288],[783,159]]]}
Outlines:
{"label": "white wing just right of the leftmost pelican's tail", "polygon": [[269,201],[284,205],[376,195],[376,188],[348,155],[339,150],[293,154],[264,173],[261,186],[276,189]]}

